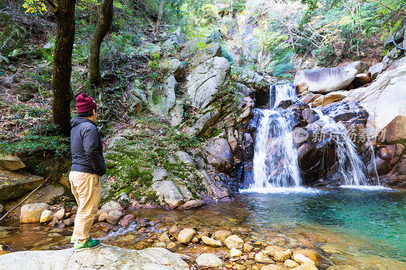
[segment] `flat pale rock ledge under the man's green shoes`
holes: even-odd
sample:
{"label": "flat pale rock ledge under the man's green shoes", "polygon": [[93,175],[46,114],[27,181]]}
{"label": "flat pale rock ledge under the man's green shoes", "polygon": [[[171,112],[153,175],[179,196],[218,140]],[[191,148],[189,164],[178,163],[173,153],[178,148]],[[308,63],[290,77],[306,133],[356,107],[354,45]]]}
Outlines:
{"label": "flat pale rock ledge under the man's green shoes", "polygon": [[80,252],[74,252],[73,248],[12,252],[0,256],[0,269],[189,270],[189,266],[164,248],[133,250],[102,244],[98,248]]}

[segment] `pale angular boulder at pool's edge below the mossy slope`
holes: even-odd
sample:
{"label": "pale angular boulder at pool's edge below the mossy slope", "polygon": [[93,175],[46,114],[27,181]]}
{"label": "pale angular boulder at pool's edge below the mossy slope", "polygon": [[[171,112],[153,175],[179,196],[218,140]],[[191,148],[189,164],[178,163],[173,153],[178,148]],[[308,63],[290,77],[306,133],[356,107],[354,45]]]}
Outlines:
{"label": "pale angular boulder at pool's edge below the mossy slope", "polygon": [[182,192],[171,180],[156,181],[151,185],[150,190],[156,192],[162,205],[166,203],[171,209],[180,206],[185,201]]}

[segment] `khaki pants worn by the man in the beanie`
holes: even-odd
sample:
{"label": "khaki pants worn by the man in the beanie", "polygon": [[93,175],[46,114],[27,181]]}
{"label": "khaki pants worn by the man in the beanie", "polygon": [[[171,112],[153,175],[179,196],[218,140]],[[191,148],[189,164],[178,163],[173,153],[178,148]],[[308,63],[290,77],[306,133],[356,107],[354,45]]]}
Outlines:
{"label": "khaki pants worn by the man in the beanie", "polygon": [[81,244],[86,243],[100,204],[100,176],[97,174],[70,172],[72,193],[78,203],[73,234]]}

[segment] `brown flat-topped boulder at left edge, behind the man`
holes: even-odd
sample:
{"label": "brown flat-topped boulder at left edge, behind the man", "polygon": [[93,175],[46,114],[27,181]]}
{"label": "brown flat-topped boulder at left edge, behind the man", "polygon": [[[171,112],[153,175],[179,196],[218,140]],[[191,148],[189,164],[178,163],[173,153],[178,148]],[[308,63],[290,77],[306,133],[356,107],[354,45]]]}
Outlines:
{"label": "brown flat-topped boulder at left edge, behind the man", "polygon": [[2,201],[18,198],[42,182],[42,176],[0,170],[0,198]]}

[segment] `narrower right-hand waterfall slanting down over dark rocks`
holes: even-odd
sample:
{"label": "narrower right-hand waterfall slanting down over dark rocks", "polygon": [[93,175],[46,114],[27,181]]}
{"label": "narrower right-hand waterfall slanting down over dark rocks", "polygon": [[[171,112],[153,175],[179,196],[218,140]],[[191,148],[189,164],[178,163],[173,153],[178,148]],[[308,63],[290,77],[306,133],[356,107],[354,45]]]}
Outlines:
{"label": "narrower right-hand waterfall slanting down over dark rocks", "polygon": [[322,134],[330,134],[335,142],[335,156],[337,158],[337,170],[343,177],[343,185],[369,185],[365,166],[358,156],[356,146],[346,132],[344,126],[335,123],[333,119],[324,115],[320,109],[313,108],[323,122]]}

